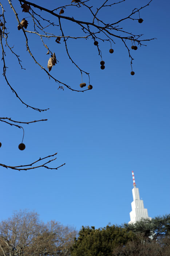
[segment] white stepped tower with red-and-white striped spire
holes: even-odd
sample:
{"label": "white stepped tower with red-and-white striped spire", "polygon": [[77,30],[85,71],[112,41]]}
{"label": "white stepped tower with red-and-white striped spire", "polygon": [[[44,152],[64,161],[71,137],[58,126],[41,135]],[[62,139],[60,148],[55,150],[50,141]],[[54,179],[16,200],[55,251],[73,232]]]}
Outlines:
{"label": "white stepped tower with red-and-white striped spire", "polygon": [[132,189],[133,202],[131,203],[132,210],[130,212],[129,224],[140,221],[142,218],[151,220],[151,218],[148,216],[147,209],[144,208],[143,200],[140,199],[139,189],[136,187],[133,171],[132,171],[132,177],[133,177],[133,187],[134,188]]}

